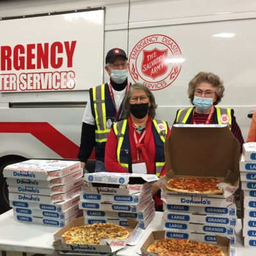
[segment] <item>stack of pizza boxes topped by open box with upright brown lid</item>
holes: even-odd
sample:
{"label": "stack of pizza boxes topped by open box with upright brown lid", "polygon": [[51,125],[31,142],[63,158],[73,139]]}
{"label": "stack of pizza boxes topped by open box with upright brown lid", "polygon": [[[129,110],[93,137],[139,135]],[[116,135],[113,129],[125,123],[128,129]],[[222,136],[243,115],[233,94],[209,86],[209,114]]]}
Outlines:
{"label": "stack of pizza boxes topped by open box with upright brown lid", "polygon": [[[236,243],[234,193],[239,184],[240,145],[224,125],[174,125],[164,144],[166,168],[161,180],[166,237],[216,243],[216,235]],[[166,189],[175,177],[216,177],[223,195],[180,193]]]}

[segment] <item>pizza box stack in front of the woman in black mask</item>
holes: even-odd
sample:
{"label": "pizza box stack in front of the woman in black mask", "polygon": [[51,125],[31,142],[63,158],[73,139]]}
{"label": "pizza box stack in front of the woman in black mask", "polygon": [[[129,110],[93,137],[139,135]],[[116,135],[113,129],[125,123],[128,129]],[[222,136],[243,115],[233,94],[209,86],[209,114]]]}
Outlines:
{"label": "pizza box stack in front of the woman in black mask", "polygon": [[146,228],[154,218],[152,182],[156,175],[135,173],[88,173],[80,193],[79,208],[87,224],[115,223],[127,226],[127,218]]}

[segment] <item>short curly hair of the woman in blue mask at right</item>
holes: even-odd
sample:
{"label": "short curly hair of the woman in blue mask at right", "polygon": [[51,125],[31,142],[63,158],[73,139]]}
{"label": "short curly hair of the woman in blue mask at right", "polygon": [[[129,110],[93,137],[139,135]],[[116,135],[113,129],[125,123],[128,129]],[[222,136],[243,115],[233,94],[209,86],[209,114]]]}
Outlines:
{"label": "short curly hair of the woman in blue mask at right", "polygon": [[217,99],[213,104],[217,105],[219,102],[221,102],[221,98],[224,96],[225,88],[220,77],[211,72],[199,72],[195,77],[193,77],[193,79],[191,79],[191,81],[189,81],[188,97],[190,102],[193,104],[196,86],[203,82],[212,84],[212,86],[214,86]]}

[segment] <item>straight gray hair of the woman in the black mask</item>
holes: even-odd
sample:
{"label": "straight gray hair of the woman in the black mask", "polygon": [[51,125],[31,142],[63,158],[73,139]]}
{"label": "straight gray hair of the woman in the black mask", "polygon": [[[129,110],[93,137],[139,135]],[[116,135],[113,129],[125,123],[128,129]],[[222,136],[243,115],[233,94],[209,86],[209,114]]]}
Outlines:
{"label": "straight gray hair of the woman in the black mask", "polygon": [[149,97],[149,101],[150,101],[148,115],[150,115],[152,118],[154,118],[156,116],[156,108],[157,108],[155,97],[154,97],[153,93],[147,88],[147,86],[145,86],[144,84],[141,84],[141,83],[132,84],[129,88],[128,93],[126,93],[126,95],[125,95],[124,104],[123,104],[124,118],[127,118],[131,113],[130,112],[131,111],[130,97],[131,97],[132,90],[143,90],[145,93],[147,93],[147,95]]}

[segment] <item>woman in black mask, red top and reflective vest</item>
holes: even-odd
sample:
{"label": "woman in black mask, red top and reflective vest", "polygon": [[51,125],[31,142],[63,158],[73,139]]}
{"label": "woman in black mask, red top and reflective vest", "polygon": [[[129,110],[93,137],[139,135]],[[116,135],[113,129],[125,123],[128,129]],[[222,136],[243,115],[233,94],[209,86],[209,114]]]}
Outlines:
{"label": "woman in black mask, red top and reflective vest", "polygon": [[[125,119],[113,125],[105,151],[105,168],[109,172],[148,173],[162,177],[166,173],[164,141],[170,135],[166,122],[155,119],[156,102],[150,90],[132,84],[125,96]],[[162,201],[153,186],[156,209]]]}

